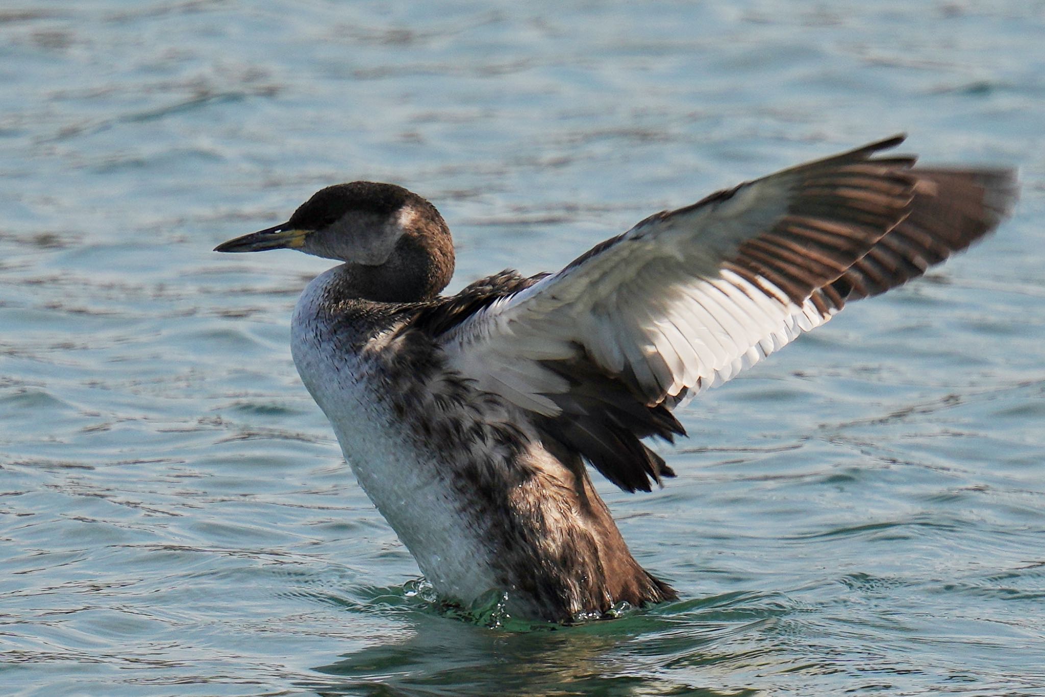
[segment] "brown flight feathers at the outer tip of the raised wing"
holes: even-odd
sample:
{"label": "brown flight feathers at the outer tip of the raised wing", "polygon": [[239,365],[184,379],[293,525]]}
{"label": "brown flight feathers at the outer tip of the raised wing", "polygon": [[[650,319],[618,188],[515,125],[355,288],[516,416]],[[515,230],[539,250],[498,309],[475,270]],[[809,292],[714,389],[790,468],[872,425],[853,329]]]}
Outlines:
{"label": "brown flight feathers at the outer tip of the raised wing", "polygon": [[921,276],[1012,212],[1015,169],[915,167],[913,156],[878,155],[903,141],[898,134],[784,170],[787,215],[742,242],[732,271],[765,278],[796,303],[833,293],[826,307],[837,310]]}

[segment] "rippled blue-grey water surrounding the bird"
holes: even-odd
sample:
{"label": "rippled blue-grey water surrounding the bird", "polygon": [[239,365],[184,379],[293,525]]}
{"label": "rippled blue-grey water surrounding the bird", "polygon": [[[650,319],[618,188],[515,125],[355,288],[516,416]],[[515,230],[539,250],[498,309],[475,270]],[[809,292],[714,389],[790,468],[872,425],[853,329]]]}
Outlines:
{"label": "rippled blue-grey water surrounding the bird", "polygon": [[[328,262],[218,255],[403,184],[450,291],[898,131],[1021,168],[993,238],[600,484],[681,600],[446,617],[295,373]],[[0,692],[1045,695],[1045,4],[0,2]]]}

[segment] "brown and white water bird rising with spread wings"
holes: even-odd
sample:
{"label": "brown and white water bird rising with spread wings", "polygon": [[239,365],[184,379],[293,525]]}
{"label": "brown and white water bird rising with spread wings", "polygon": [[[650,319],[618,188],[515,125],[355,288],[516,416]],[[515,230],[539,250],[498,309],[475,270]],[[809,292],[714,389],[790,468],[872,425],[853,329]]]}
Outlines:
{"label": "brown and white water bird rising with spread wings", "polygon": [[454,242],[400,186],[317,192],[218,252],[342,262],[292,322],[301,379],[440,596],[492,590],[571,622],[676,598],[628,551],[585,463],[625,491],[674,477],[644,439],[673,410],[855,300],[921,276],[1009,212],[1015,172],[920,167],[895,136],[650,215],[553,274],[449,297]]}

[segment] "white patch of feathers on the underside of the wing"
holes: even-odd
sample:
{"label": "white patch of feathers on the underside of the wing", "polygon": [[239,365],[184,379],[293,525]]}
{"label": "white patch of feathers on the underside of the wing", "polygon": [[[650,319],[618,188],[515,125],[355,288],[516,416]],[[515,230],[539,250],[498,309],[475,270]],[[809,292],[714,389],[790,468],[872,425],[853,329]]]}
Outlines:
{"label": "white patch of feathers on the underside of the wing", "polygon": [[[588,295],[576,294],[573,302],[562,303],[558,293],[550,308],[527,302],[534,291],[552,293],[540,286],[556,280],[549,277],[494,303],[445,345],[451,367],[477,387],[544,416],[559,415],[552,396],[567,392],[570,382],[542,362],[586,355],[611,375],[630,371],[638,385],[663,395],[650,405],[665,399],[675,405],[734,378],[833,315],[809,301],[791,302],[768,281],[756,286],[729,271],[690,279],[667,294],[656,283],[635,284],[651,287],[631,297],[620,289],[632,285],[603,274],[601,283],[585,283]],[[598,293],[604,284],[618,292]],[[677,399],[680,394],[684,399]]]}

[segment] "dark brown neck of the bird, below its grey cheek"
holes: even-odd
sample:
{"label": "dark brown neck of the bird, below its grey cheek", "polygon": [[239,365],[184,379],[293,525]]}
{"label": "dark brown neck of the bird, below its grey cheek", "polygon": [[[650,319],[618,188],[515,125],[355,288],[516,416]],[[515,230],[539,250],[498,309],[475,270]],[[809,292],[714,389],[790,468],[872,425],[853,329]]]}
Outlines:
{"label": "dark brown neck of the bird, below its grey cheek", "polygon": [[431,300],[454,275],[454,243],[449,234],[408,232],[385,263],[347,262],[345,281],[352,295],[376,302]]}

